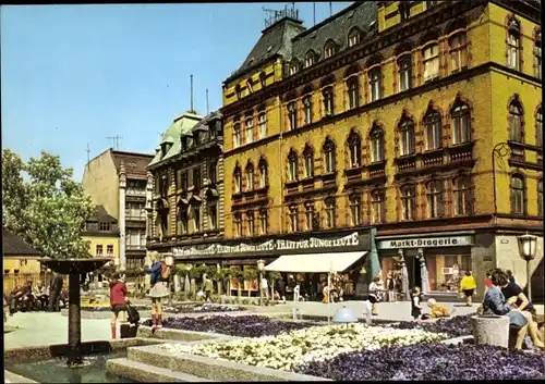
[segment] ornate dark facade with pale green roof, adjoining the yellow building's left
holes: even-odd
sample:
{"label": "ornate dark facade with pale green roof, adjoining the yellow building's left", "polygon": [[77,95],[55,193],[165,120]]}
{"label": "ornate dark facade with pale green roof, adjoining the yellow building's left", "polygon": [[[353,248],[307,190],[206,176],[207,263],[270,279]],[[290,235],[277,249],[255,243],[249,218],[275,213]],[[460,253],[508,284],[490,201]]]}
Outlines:
{"label": "ornate dark facade with pale green roof, adjoining the yellow building's left", "polygon": [[166,131],[147,170],[148,250],[223,237],[222,116],[186,112]]}

